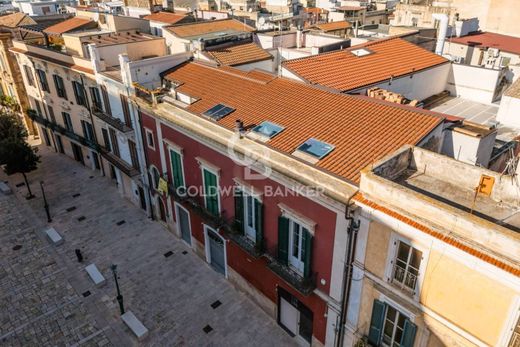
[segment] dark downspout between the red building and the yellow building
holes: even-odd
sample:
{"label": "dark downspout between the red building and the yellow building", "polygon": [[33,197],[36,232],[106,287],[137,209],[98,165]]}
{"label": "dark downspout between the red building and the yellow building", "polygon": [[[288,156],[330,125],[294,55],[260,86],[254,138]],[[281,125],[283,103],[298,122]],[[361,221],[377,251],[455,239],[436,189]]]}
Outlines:
{"label": "dark downspout between the red building and the yellow building", "polygon": [[[359,191],[359,190],[358,190]],[[356,191],[357,193],[357,191]],[[347,320],[347,309],[348,302],[350,299],[350,288],[352,284],[352,263],[354,260],[355,254],[355,246],[357,241],[357,233],[359,230],[360,222],[357,223],[354,221],[354,217],[350,215],[350,201],[356,194],[354,193],[347,202],[347,207],[345,211],[345,217],[349,221],[347,234],[348,234],[348,242],[346,249],[346,257],[345,257],[345,267],[343,268],[343,288],[341,291],[341,309],[339,315],[339,325],[336,327],[336,336],[335,336],[335,346],[341,347],[343,346],[343,341],[345,339],[345,322]],[[339,333],[339,337],[337,336]]]}

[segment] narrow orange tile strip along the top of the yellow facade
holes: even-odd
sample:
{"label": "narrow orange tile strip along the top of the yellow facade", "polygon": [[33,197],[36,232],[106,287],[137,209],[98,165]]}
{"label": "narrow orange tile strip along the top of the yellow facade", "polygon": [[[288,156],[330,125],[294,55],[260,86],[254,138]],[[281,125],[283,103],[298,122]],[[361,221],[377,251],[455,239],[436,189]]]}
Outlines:
{"label": "narrow orange tile strip along the top of the yellow facade", "polygon": [[384,214],[387,214],[397,220],[400,220],[401,222],[404,222],[412,227],[414,227],[415,229],[418,229],[426,234],[429,234],[443,242],[446,242],[450,245],[452,245],[453,247],[456,247],[458,249],[461,249],[463,250],[464,252],[466,253],[469,253],[471,255],[473,255],[474,257],[477,257],[491,265],[494,265],[504,271],[507,271],[515,276],[518,276],[520,277],[520,269],[518,267],[513,267],[511,265],[508,265],[506,264],[505,262],[501,261],[501,260],[498,260],[494,257],[491,257],[473,247],[470,247],[466,244],[463,244],[462,242],[456,240],[455,238],[453,237],[450,237],[450,236],[447,236],[445,234],[442,234],[438,231],[435,231],[423,224],[420,224],[420,223],[417,223],[415,221],[413,221],[412,219],[406,217],[406,216],[403,216],[402,214],[400,213],[397,213],[389,208],[386,208],[382,205],[379,205],[378,203],[372,201],[372,200],[369,200],[367,199],[365,196],[363,196],[362,193],[357,193],[356,195],[354,195],[354,201],[357,201],[361,204],[364,204],[364,205],[367,205],[375,210],[378,210],[378,211],[381,211],[383,212]]}

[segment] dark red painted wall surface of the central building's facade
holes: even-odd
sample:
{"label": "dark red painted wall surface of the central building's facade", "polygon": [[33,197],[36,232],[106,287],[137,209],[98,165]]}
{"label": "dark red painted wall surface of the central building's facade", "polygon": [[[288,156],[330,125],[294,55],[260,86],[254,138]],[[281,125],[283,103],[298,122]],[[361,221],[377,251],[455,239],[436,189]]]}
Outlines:
{"label": "dark red painted wall surface of the central building's facade", "polygon": [[[152,117],[143,114],[142,118],[143,126],[150,130],[155,129],[155,121]],[[277,189],[281,191],[285,190],[284,186],[268,178],[261,180],[244,179],[243,166],[236,164],[227,156],[216,152],[164,124],[161,124],[161,132],[163,139],[182,148],[185,183],[188,187],[202,186],[201,168],[196,160],[196,158],[199,157],[220,168],[219,184],[221,187],[233,187],[235,185],[233,178],[238,178],[261,192],[264,191],[264,187],[266,186],[270,187],[273,191]],[[154,164],[161,172],[168,172],[168,179],[169,182],[171,182],[172,172],[168,145],[166,143],[161,144],[164,146],[167,168],[161,168],[160,166],[161,161],[158,145],[159,143],[156,142],[155,151],[151,151],[145,146],[148,153],[150,153],[148,155],[148,160],[150,161],[148,166]],[[329,293],[336,213],[303,196],[266,196],[264,194],[261,196],[261,199],[264,205],[263,233],[266,248],[270,253],[276,251],[277,248],[278,217],[281,214],[278,204],[282,203],[316,223],[312,250],[312,271],[316,273],[317,289],[324,293]],[[200,199],[200,202],[203,203],[202,199]],[[220,205],[225,220],[232,222],[234,217],[233,195],[221,196]],[[174,213],[174,211],[172,212]],[[202,219],[194,213],[190,213],[190,217],[193,237],[204,244]],[[227,243],[227,264],[275,303],[278,300],[276,293],[277,286],[282,286],[296,296],[298,300],[313,311],[313,334],[318,340],[324,342],[326,329],[326,318],[324,314],[326,313],[326,303],[323,300],[315,294],[311,294],[307,297],[299,294],[266,267],[265,259],[254,259],[233,242]],[[321,279],[326,281],[325,285],[321,284]]]}

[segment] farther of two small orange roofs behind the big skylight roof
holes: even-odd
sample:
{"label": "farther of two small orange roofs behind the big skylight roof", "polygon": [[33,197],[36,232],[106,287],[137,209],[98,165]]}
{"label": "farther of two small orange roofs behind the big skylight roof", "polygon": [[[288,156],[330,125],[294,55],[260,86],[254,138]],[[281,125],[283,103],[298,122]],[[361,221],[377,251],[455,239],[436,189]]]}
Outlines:
{"label": "farther of two small orange roofs behind the big skylight roof", "polygon": [[226,31],[255,31],[254,28],[235,19],[179,24],[167,27],[166,30],[175,36],[184,38]]}

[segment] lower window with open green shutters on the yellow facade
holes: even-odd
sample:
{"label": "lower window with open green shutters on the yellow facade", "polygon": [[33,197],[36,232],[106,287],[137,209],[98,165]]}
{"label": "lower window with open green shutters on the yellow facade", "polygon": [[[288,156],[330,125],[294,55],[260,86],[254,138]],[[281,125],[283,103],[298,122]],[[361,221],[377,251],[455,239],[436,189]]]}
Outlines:
{"label": "lower window with open green shutters on the yellow facade", "polygon": [[372,346],[412,347],[417,327],[398,309],[374,300],[368,342]]}

